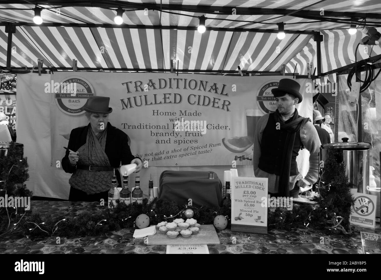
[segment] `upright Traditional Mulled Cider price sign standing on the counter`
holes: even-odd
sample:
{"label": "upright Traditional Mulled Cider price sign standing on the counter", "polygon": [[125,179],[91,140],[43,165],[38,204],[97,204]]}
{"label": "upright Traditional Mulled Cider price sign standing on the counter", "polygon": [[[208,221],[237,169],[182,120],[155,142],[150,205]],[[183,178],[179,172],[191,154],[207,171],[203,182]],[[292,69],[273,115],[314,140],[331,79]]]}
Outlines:
{"label": "upright Traditional Mulled Cider price sign standing on the counter", "polygon": [[267,233],[267,178],[232,177],[232,231]]}

